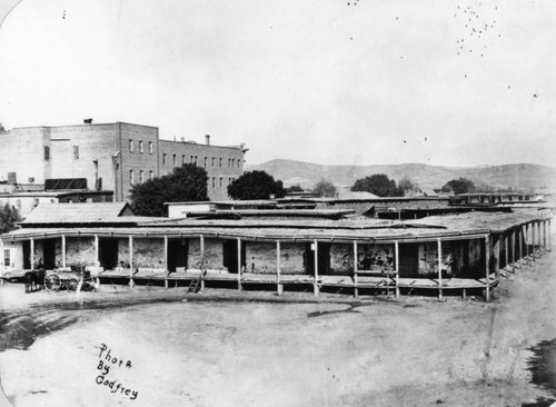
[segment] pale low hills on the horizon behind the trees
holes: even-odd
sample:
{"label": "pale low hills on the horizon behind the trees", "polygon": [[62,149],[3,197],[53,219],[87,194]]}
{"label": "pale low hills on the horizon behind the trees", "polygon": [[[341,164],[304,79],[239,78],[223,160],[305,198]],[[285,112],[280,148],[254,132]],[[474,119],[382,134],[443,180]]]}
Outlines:
{"label": "pale low hills on the horizon behind the trees", "polygon": [[248,170],[262,170],[285,186],[312,187],[320,179],[329,179],[337,186],[351,186],[373,173],[386,173],[399,181],[410,178],[420,188],[440,188],[447,181],[465,177],[477,185],[494,188],[556,189],[556,168],[533,163],[480,167],[440,167],[424,163],[400,163],[381,166],[324,166],[310,162],[276,159],[260,165],[248,166]]}

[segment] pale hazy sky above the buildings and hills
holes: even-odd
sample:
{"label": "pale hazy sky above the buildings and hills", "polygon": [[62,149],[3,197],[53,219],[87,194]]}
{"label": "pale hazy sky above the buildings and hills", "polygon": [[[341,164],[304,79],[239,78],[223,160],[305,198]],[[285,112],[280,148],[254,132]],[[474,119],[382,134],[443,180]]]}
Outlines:
{"label": "pale hazy sky above the buildings and hills", "polygon": [[209,133],[249,163],[556,167],[555,21],[554,0],[24,0],[0,122]]}

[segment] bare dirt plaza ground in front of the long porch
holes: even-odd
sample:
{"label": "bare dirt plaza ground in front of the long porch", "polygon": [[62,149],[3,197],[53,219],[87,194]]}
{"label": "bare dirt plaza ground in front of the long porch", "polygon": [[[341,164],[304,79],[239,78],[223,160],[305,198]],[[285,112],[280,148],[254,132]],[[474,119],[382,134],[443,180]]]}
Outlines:
{"label": "bare dirt plaza ground in front of the long porch", "polygon": [[2,386],[18,407],[548,406],[555,353],[535,350],[554,350],[555,259],[503,279],[489,304],[7,284]]}

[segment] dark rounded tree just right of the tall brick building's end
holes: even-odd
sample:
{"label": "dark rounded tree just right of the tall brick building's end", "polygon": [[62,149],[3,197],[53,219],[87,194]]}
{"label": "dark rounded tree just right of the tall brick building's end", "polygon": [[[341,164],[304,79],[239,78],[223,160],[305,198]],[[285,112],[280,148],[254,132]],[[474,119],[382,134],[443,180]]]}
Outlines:
{"label": "dark rounded tree just right of the tall brick building's end", "polygon": [[286,191],[280,180],[265,171],[248,171],[228,186],[228,195],[232,199],[269,199],[270,196],[281,198]]}

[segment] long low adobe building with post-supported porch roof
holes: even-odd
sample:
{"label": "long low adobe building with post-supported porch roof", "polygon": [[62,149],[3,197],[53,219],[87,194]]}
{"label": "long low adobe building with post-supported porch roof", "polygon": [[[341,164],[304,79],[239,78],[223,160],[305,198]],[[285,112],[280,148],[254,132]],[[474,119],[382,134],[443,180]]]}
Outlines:
{"label": "long low adobe building with post-supported porch roof", "polygon": [[[330,211],[330,210],[328,210]],[[100,268],[101,282],[200,284],[346,294],[481,292],[550,245],[548,211],[396,221],[136,217],[123,202],[40,204],[0,236],[0,278]],[[330,215],[330,214],[328,214]],[[191,287],[191,286],[189,286]]]}

